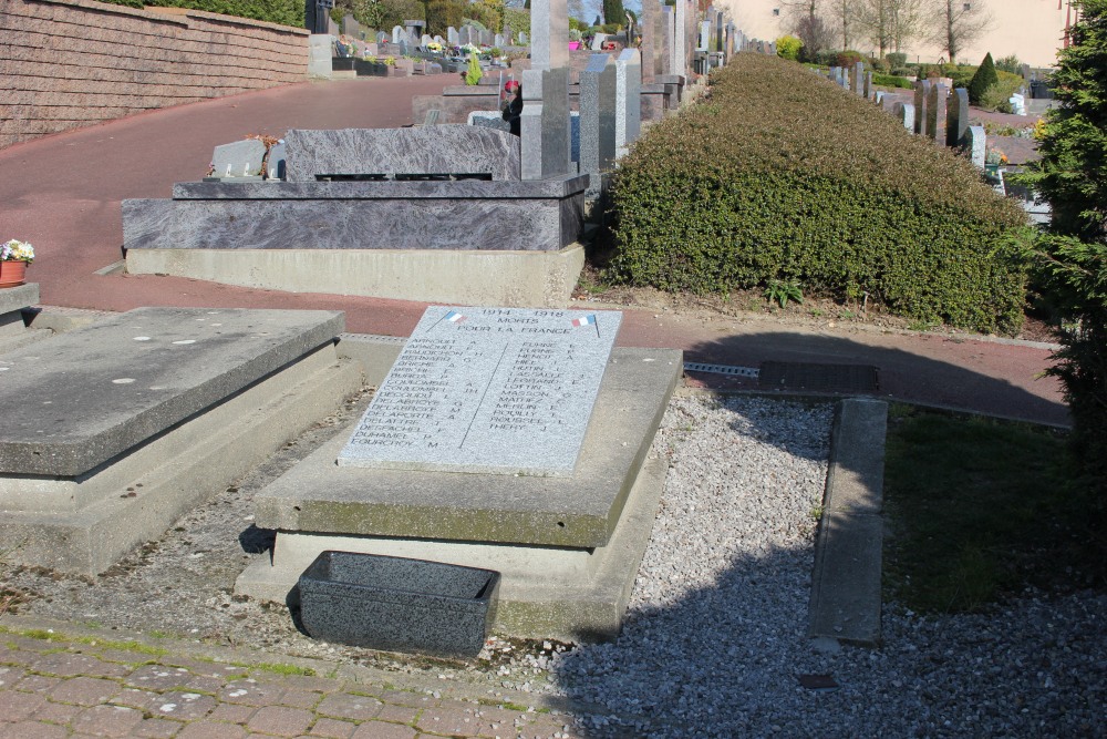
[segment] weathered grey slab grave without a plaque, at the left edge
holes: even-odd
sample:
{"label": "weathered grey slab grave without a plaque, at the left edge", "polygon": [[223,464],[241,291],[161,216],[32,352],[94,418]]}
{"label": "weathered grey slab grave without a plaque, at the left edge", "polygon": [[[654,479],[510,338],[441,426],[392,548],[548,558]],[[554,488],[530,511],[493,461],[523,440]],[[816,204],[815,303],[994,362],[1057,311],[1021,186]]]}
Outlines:
{"label": "weathered grey slab grave without a plaque, at the left edge", "polygon": [[144,308],[4,355],[7,560],[95,575],[156,538],[361,387],[342,325]]}

